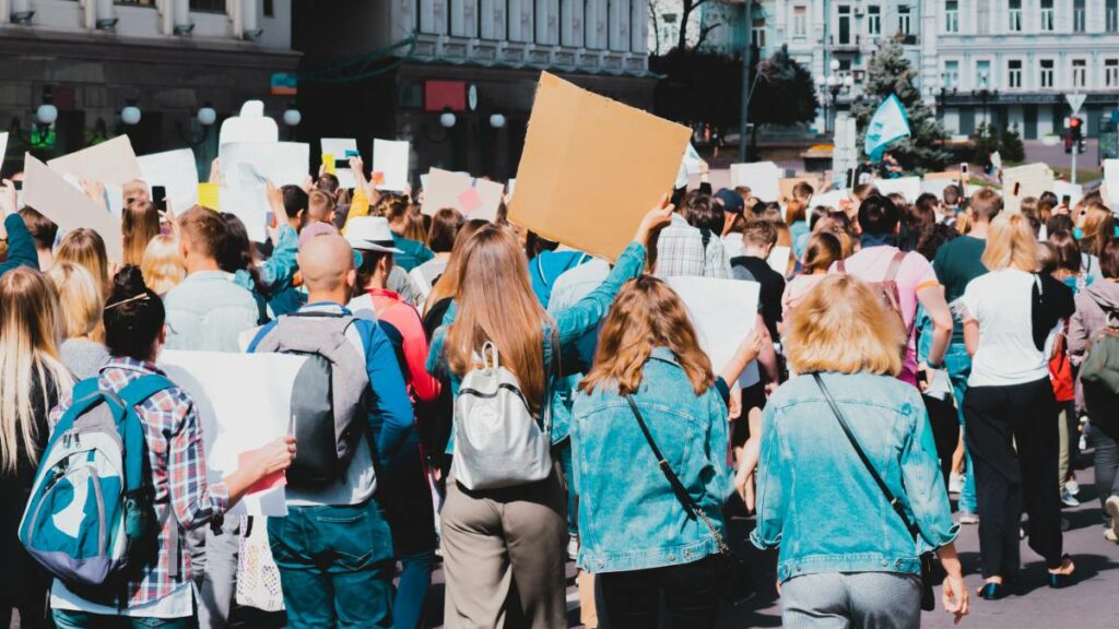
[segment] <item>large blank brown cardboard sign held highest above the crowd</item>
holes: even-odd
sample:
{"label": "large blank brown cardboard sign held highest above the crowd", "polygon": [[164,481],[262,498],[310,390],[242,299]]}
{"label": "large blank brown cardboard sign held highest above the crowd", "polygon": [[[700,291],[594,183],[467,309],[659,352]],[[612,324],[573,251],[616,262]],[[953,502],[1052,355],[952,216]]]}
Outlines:
{"label": "large blank brown cardboard sign held highest above the crowd", "polygon": [[690,137],[686,126],[543,73],[509,220],[617,260],[671,191]]}

